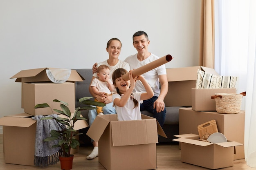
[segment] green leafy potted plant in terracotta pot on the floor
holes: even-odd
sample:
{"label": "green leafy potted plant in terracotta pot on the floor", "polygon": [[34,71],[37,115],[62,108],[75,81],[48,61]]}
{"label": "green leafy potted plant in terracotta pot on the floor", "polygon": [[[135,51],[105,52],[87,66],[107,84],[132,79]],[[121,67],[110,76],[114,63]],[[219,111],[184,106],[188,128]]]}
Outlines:
{"label": "green leafy potted plant in terracotta pot on the floor", "polygon": [[[47,137],[44,139],[44,141],[54,141],[58,140],[58,144],[52,146],[52,148],[60,147],[61,149],[61,155],[59,157],[59,160],[61,161],[62,158],[70,158],[71,159],[71,166],[69,168],[63,168],[65,170],[72,169],[72,160],[73,160],[73,155],[70,154],[71,148],[76,148],[77,146],[80,145],[79,141],[74,138],[76,135],[81,135],[81,133],[77,133],[76,130],[74,130],[74,124],[78,120],[86,120],[84,117],[81,117],[81,110],[92,110],[92,109],[97,109],[96,107],[93,106],[100,106],[103,107],[105,104],[101,102],[95,102],[92,100],[89,100],[93,97],[83,97],[79,99],[79,106],[76,108],[74,112],[74,116],[72,116],[70,109],[68,108],[68,103],[60,101],[58,99],[54,99],[53,102],[60,102],[61,103],[61,109],[62,110],[57,110],[57,109],[52,109],[52,114],[54,114],[54,111],[67,116],[67,118],[63,117],[43,117],[41,120],[45,119],[54,119],[55,121],[59,122],[62,125],[65,125],[66,128],[64,130],[51,130],[50,137]],[[82,105],[88,105],[88,106],[83,106]],[[37,104],[35,108],[47,108],[50,106],[47,103],[44,104]],[[61,161],[62,163],[62,161]],[[63,166],[61,164],[61,166]]]}

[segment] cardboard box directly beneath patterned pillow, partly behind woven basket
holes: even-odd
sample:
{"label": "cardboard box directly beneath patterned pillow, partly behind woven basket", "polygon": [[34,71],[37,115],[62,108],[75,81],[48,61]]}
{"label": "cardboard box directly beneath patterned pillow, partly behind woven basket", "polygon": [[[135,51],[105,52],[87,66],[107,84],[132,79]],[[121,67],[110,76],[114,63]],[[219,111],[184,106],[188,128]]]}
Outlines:
{"label": "cardboard box directly beneath patterned pillow, partly behind woven basket", "polygon": [[216,111],[215,99],[211,99],[216,93],[236,93],[236,88],[192,88],[192,110]]}

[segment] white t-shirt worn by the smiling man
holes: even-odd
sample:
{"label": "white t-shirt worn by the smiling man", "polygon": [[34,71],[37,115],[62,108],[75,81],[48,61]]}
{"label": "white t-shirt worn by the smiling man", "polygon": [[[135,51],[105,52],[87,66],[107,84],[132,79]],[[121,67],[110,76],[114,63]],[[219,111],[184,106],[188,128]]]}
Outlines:
{"label": "white t-shirt worn by the smiling man", "polygon": [[[159,57],[157,57],[156,55],[151,53],[151,55],[148,58],[146,58],[143,61],[139,61],[137,58],[137,53],[136,53],[135,55],[130,55],[124,61],[129,63],[130,69],[133,70],[133,69],[139,68],[141,66],[144,66],[150,62],[153,62],[157,59],[159,59]],[[146,79],[146,81],[148,82],[150,87],[153,89],[154,96],[157,96],[157,97],[160,94],[159,75],[166,75],[166,68],[165,68],[164,64],[157,68],[154,68],[153,70],[150,70],[150,71],[142,74],[142,76]],[[143,86],[141,81],[136,82],[134,91],[140,91],[140,92],[146,93],[145,87]]]}

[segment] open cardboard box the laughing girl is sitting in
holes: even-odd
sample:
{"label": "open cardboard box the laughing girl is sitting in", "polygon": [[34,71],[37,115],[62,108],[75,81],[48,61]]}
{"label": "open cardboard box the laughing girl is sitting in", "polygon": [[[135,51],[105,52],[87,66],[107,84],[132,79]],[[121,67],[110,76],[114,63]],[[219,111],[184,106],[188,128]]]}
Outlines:
{"label": "open cardboard box the laughing girl is sitting in", "polygon": [[[117,121],[117,115],[97,116],[87,135],[99,141],[99,162],[107,170],[149,170],[157,168],[157,134],[166,137],[153,117]],[[167,138],[167,137],[166,137]]]}

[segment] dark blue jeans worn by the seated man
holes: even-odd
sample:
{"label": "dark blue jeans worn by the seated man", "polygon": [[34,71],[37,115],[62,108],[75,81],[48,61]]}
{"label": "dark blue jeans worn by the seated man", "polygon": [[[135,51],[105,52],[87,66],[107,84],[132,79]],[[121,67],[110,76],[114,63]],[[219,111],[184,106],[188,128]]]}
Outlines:
{"label": "dark blue jeans worn by the seated man", "polygon": [[153,117],[157,119],[159,124],[163,127],[165,115],[166,115],[166,108],[164,108],[164,111],[157,113],[157,110],[154,109],[154,102],[157,100],[157,96],[153,96],[152,98],[148,100],[144,100],[142,104],[140,104],[140,111],[147,110],[150,113],[153,113]]}

